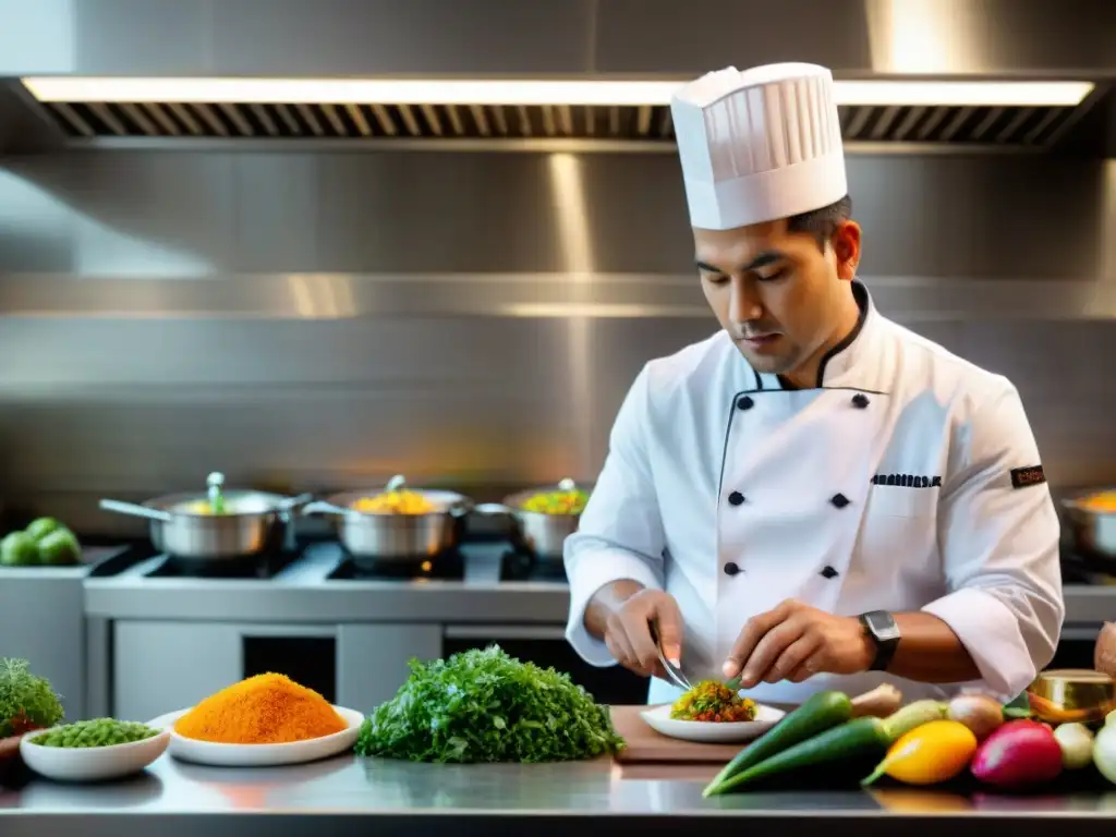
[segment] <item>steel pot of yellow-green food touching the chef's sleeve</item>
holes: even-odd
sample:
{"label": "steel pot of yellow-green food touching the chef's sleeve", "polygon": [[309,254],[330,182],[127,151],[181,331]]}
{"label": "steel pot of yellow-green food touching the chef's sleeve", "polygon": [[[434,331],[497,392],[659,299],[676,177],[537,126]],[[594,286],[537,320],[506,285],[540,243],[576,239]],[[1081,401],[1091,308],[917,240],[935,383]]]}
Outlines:
{"label": "steel pot of yellow-green food touching the chef's sleeve", "polygon": [[542,560],[561,560],[562,543],[577,531],[591,489],[565,479],[557,487],[517,491],[501,503],[481,503],[478,514],[507,516],[517,538]]}

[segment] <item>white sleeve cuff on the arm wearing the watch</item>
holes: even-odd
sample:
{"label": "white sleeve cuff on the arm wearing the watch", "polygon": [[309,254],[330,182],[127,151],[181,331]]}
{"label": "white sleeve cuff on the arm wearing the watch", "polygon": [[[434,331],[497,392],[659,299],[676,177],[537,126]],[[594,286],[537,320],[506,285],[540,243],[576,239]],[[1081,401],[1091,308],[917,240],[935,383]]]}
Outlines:
{"label": "white sleeve cuff on the arm wearing the watch", "polygon": [[991,593],[964,587],[922,609],[953,629],[972,655],[983,684],[999,700],[1012,700],[1033,682],[1037,672],[1019,622]]}

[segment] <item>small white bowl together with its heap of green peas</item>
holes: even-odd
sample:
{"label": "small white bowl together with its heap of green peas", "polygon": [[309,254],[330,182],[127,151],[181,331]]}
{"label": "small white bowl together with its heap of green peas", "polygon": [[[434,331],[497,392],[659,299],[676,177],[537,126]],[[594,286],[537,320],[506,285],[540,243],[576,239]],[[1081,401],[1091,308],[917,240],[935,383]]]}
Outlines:
{"label": "small white bowl together with its heap of green peas", "polygon": [[142,772],[170,742],[170,730],[97,718],[31,732],[19,742],[19,754],[47,779],[95,782]]}

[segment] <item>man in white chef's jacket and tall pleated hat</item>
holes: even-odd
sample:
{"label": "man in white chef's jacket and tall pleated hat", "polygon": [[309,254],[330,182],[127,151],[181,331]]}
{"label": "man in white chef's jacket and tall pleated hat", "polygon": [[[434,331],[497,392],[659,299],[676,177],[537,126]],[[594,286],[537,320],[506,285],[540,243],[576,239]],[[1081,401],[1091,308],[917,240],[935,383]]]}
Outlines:
{"label": "man in white chef's jacket and tall pleated hat", "polygon": [[698,281],[721,328],[647,363],[567,539],[588,663],[763,702],[884,682],[1001,700],[1049,663],[1059,523],[1016,387],[856,279],[830,73],[712,73],[671,105]]}

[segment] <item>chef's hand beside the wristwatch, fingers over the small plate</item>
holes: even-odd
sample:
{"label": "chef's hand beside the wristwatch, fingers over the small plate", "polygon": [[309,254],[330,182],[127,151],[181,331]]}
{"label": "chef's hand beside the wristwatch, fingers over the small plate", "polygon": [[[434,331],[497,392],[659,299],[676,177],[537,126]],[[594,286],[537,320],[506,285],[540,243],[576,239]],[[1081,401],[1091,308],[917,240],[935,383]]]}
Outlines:
{"label": "chef's hand beside the wristwatch, fingers over the small plate", "polygon": [[741,673],[741,686],[789,680],[801,683],[820,672],[856,674],[875,656],[872,639],[854,616],[834,616],[787,599],[753,616],[724,663],[724,676]]}

